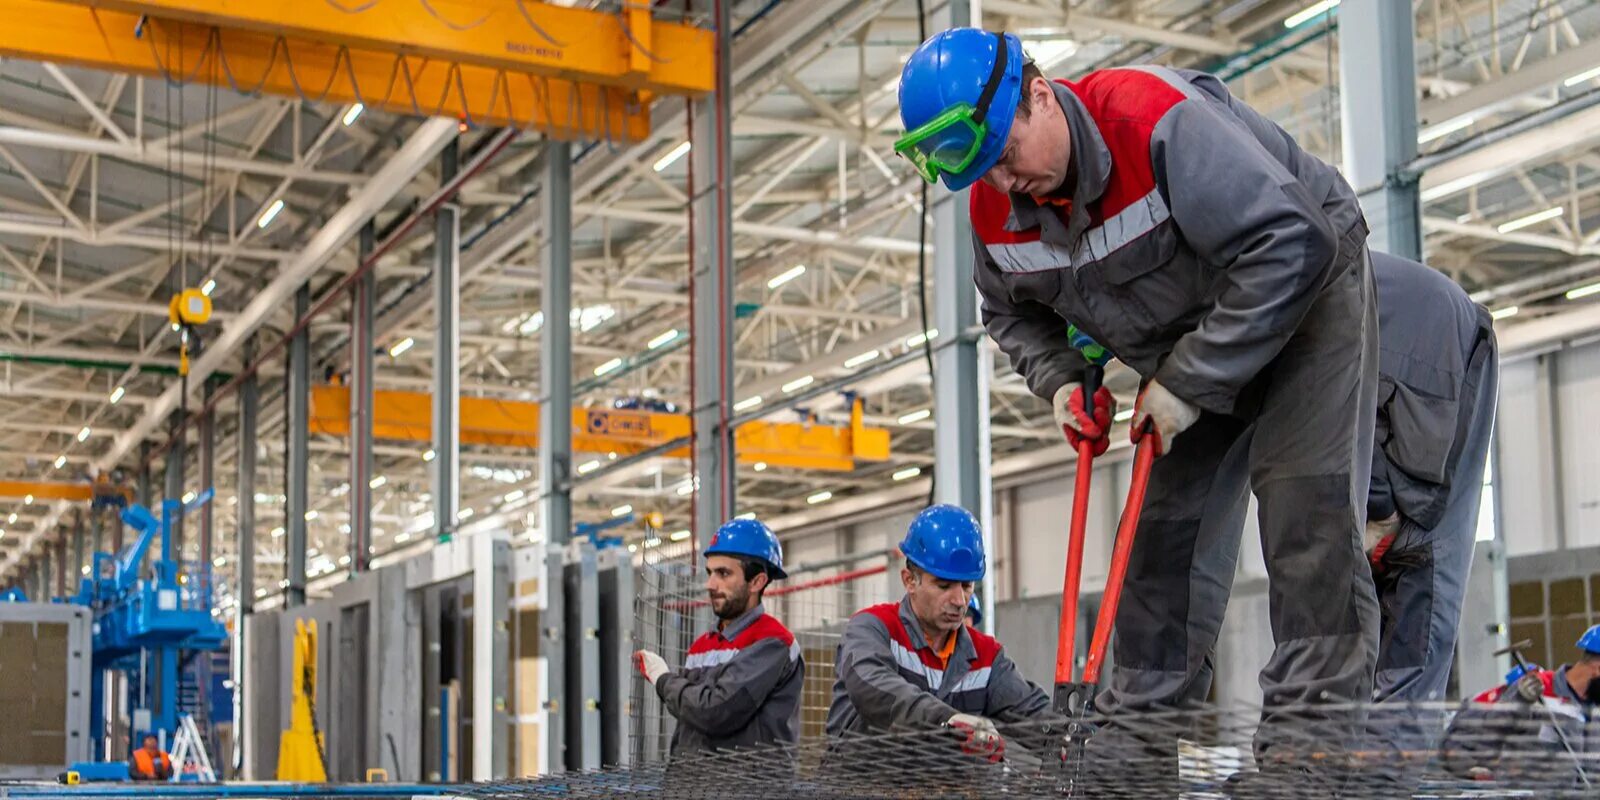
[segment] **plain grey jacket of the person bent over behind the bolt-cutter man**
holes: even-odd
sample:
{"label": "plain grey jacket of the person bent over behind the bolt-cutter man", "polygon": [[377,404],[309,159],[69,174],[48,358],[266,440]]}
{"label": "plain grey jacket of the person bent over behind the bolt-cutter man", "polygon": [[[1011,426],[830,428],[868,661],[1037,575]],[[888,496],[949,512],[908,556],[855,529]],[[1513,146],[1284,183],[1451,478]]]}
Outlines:
{"label": "plain grey jacket of the person bent over behind the bolt-cutter man", "polygon": [[[1496,363],[1494,323],[1456,282],[1373,253],[1378,282],[1378,438],[1366,518],[1400,512],[1438,525],[1451,477]],[[1491,410],[1483,410],[1490,413]]]}

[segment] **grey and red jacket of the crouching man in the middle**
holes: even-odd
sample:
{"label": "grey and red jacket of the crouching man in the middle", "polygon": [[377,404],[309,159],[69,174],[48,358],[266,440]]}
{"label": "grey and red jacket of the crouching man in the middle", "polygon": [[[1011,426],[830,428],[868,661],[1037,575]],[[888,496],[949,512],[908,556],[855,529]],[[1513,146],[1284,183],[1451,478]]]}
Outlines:
{"label": "grey and red jacket of the crouching man in the middle", "polygon": [[941,666],[909,597],[858,611],[834,662],[829,738],[931,730],[957,714],[1022,722],[1050,712],[1050,698],[1016,670],[998,642],[968,626],[955,637]]}

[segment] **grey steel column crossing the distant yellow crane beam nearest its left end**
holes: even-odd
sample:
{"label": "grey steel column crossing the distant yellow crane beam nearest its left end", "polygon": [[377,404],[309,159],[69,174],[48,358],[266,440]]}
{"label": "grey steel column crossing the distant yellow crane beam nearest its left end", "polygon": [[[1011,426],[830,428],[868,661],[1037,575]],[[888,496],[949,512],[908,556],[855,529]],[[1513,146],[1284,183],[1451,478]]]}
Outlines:
{"label": "grey steel column crossing the distant yellow crane beam nearest its left end", "polygon": [[[362,226],[360,259],[376,232]],[[350,291],[350,573],[366,571],[373,544],[373,296],[378,272],[366,270]]]}

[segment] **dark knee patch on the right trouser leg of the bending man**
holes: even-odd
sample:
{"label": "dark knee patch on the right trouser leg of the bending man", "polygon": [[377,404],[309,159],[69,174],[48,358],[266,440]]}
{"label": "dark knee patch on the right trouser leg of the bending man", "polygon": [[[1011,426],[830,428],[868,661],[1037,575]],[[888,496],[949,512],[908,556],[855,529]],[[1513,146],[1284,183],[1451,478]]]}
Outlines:
{"label": "dark knee patch on the right trouser leg of the bending man", "polygon": [[[1362,557],[1350,477],[1306,475],[1269,480],[1261,501],[1261,546],[1272,597],[1272,635],[1293,638],[1355,634],[1362,618],[1354,597],[1370,566]],[[1358,573],[1360,570],[1362,573]]]}

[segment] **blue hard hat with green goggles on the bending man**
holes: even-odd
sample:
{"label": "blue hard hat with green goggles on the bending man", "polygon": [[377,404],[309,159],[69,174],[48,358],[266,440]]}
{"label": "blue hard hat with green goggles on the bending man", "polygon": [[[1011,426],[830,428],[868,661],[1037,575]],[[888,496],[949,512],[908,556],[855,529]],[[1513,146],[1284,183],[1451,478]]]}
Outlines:
{"label": "blue hard hat with green goggles on the bending man", "polygon": [[[906,147],[896,142],[896,150],[912,158],[930,182],[942,178],[952,192],[973,186],[1005,150],[1022,98],[1026,61],[1022,40],[1011,34],[976,27],[934,34],[901,70],[899,109],[907,136]],[[939,123],[957,109],[965,122]],[[974,141],[978,134],[981,141]],[[939,168],[928,170],[925,162]]]}

